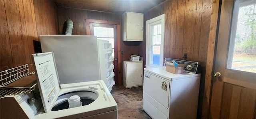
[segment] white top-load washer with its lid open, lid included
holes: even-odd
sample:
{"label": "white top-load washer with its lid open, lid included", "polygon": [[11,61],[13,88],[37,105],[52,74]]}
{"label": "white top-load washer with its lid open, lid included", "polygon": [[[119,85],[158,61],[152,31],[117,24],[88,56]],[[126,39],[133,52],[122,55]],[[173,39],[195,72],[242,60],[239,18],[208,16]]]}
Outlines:
{"label": "white top-load washer with its lid open, lid included", "polygon": [[[116,101],[103,81],[60,85],[53,52],[32,56],[44,107],[44,111],[35,115],[35,119],[81,118],[92,115],[94,118],[106,118],[106,115],[117,118]],[[68,109],[68,99],[72,95],[81,97],[82,106]]]}

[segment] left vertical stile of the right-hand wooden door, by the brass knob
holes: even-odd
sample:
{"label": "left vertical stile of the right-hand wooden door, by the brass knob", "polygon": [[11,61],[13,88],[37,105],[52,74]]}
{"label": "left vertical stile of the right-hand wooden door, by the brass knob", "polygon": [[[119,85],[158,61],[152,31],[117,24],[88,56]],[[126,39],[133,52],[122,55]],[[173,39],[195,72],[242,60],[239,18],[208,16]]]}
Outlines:
{"label": "left vertical stile of the right-hand wooden door, by the brass knob", "polygon": [[[223,98],[223,75],[221,77],[214,77],[213,72],[218,71],[224,73],[224,69],[226,66],[226,54],[227,54],[227,47],[228,47],[228,40],[229,40],[229,31],[230,31],[230,23],[232,18],[232,10],[234,5],[234,0],[222,0],[220,7],[220,16],[218,21],[218,30],[216,35],[216,43],[215,40],[209,40],[209,44],[214,42],[213,49],[215,50],[214,54],[214,64],[213,70],[211,72],[206,73],[207,75],[211,75],[211,98],[210,98],[210,117],[211,119],[218,119],[220,118],[221,112],[221,105],[222,105],[222,98]],[[209,47],[209,46],[208,46]],[[207,63],[210,60],[207,60]],[[211,63],[212,64],[212,63]],[[210,65],[210,64],[209,64]],[[206,69],[207,70],[207,69]]]}

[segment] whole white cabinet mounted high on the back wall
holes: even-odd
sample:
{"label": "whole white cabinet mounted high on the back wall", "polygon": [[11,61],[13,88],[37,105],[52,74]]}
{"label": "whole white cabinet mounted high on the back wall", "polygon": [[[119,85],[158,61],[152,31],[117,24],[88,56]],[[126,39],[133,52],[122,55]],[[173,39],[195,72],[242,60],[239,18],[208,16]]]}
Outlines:
{"label": "whole white cabinet mounted high on the back wall", "polygon": [[123,41],[143,41],[143,17],[135,12],[122,14]]}

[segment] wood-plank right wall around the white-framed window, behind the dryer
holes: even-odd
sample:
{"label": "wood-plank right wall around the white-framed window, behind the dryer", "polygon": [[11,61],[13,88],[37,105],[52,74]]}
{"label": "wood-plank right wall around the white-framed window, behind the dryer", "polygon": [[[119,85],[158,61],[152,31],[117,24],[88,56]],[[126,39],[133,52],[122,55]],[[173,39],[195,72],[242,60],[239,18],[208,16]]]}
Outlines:
{"label": "wood-plank right wall around the white-framed window, behind the dryer", "polygon": [[[188,61],[199,61],[202,66],[198,118],[207,118],[209,97],[204,91],[206,60],[212,0],[166,0],[144,13],[144,19],[150,20],[165,14],[164,58],[182,59],[188,54]],[[146,23],[144,23],[146,25]],[[146,28],[145,28],[146,29]],[[146,34],[139,46],[139,55],[146,57]],[[144,63],[145,65],[145,63]],[[208,87],[210,89],[210,87]],[[205,110],[204,110],[205,109]]]}

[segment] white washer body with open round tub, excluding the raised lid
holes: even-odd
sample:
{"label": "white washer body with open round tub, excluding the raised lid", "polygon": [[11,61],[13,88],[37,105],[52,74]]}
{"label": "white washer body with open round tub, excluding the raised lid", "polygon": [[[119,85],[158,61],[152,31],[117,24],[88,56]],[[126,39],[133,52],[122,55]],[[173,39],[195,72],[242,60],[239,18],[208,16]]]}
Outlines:
{"label": "white washer body with open round tub, excluding the raised lid", "polygon": [[[68,98],[72,95],[81,97],[82,106],[67,109]],[[56,97],[58,98],[54,99],[54,105],[48,108],[48,112],[42,107],[33,119],[117,119],[116,101],[102,80],[63,84]],[[86,105],[86,102],[91,103]],[[62,110],[53,111],[58,105]]]}

